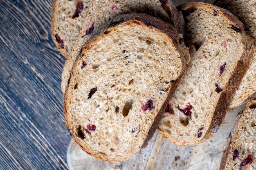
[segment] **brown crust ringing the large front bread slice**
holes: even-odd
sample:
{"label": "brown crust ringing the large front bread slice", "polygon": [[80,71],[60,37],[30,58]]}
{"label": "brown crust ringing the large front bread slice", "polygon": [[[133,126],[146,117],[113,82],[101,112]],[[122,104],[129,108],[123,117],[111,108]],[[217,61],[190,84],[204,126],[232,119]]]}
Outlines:
{"label": "brown crust ringing the large front bread slice", "polygon": [[[68,120],[69,115],[67,113],[67,108],[68,108],[69,103],[67,101],[70,96],[69,93],[73,89],[73,86],[70,85],[70,82],[72,81],[72,77],[74,76],[73,70],[77,67],[78,64],[80,64],[80,62],[78,62],[78,61],[81,57],[81,55],[80,55],[81,52],[83,52],[83,50],[85,50],[91,44],[94,44],[97,41],[97,39],[101,38],[101,35],[106,33],[106,31],[108,31],[110,28],[114,28],[116,25],[120,25],[123,22],[139,22],[143,25],[148,26],[149,28],[156,29],[156,30],[164,33],[172,41],[175,49],[177,49],[177,51],[179,51],[179,53],[182,54],[180,56],[182,58],[182,67],[180,68],[181,70],[179,71],[180,75],[177,77],[177,79],[175,79],[171,82],[170,88],[166,92],[168,95],[166,94],[166,98],[164,98],[164,101],[161,100],[163,103],[162,103],[161,107],[159,108],[159,110],[157,111],[157,113],[155,113],[156,115],[155,115],[153,122],[148,127],[148,129],[145,129],[145,131],[147,133],[145,135],[145,137],[143,139],[140,139],[139,143],[138,142],[136,143],[136,146],[134,146],[134,150],[129,150],[128,151],[129,153],[122,153],[122,155],[124,155],[124,156],[122,157],[122,159],[120,159],[120,157],[110,158],[108,156],[98,155],[97,153],[92,153],[92,151],[90,149],[88,149],[87,146],[83,146],[83,144],[81,144],[81,141],[78,139],[78,137],[76,137],[76,132],[74,131],[74,128],[71,125],[72,122],[69,122],[69,120]],[[104,26],[104,28],[101,30],[101,33],[92,37],[92,39],[90,41],[88,41],[88,43],[85,44],[85,46],[83,46],[83,48],[81,49],[80,54],[76,58],[76,61],[72,68],[72,72],[70,74],[70,81],[68,82],[67,90],[65,92],[65,97],[64,97],[63,112],[65,115],[66,126],[69,129],[70,133],[72,134],[75,142],[77,144],[79,144],[79,146],[89,155],[92,155],[98,159],[105,160],[105,161],[118,162],[118,161],[122,161],[124,159],[128,159],[130,156],[137,153],[140,148],[146,147],[148,141],[153,136],[153,133],[155,132],[156,127],[157,127],[158,120],[161,118],[162,113],[168,103],[167,99],[171,98],[180,79],[184,75],[185,70],[187,69],[187,67],[189,67],[190,56],[189,56],[188,49],[184,46],[184,43],[182,45],[180,45],[179,37],[173,30],[171,30],[171,28],[172,27],[170,27],[170,24],[164,23],[157,18],[150,17],[149,15],[145,15],[145,14],[120,15],[120,16],[116,17],[114,20],[110,21],[108,24],[106,24]],[[137,148],[138,145],[140,148]]]}

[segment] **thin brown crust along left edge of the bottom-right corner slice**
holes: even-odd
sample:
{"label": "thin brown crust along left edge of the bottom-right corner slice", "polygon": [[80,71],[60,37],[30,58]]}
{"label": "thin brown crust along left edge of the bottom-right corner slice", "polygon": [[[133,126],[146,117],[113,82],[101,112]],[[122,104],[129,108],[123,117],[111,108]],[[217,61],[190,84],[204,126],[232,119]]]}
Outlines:
{"label": "thin brown crust along left edge of the bottom-right corner slice", "polygon": [[236,119],[236,124],[234,126],[234,128],[232,129],[231,133],[229,134],[229,137],[227,139],[227,147],[226,147],[226,150],[224,151],[223,155],[222,155],[222,159],[221,159],[221,162],[220,162],[220,169],[219,170],[224,170],[225,167],[226,167],[226,163],[227,163],[227,157],[229,155],[229,152],[230,150],[232,150],[232,145],[233,145],[233,137],[236,133],[236,130],[240,128],[240,118],[243,116],[243,112],[245,110],[249,110],[250,107],[252,105],[256,105],[256,100],[252,100],[251,102],[249,102],[246,106],[245,106],[245,109],[243,109],[243,111],[241,111],[239,114],[238,114],[238,118]]}

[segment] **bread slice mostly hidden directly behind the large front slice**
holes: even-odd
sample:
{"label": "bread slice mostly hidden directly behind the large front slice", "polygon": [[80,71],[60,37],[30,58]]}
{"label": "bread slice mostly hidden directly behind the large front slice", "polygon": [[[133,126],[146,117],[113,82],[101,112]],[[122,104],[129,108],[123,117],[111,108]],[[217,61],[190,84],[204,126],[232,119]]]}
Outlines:
{"label": "bread slice mostly hidden directly behind the large front slice", "polygon": [[184,19],[181,13],[172,5],[169,0],[94,0],[88,9],[88,14],[81,28],[79,37],[76,40],[70,57],[65,62],[62,72],[61,89],[63,94],[67,86],[73,63],[79,54],[81,47],[97,33],[104,24],[115,16],[126,13],[146,13],[170,22],[178,31],[184,31]]}

